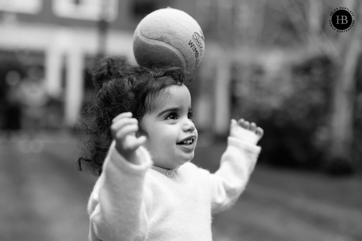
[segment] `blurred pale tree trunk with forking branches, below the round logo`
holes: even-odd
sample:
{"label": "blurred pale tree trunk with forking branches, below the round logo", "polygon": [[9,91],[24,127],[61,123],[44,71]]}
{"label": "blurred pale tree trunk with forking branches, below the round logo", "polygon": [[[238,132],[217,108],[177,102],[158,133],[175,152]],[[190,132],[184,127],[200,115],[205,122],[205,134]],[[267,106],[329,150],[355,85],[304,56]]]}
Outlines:
{"label": "blurred pale tree trunk with forking branches, below the round logo", "polygon": [[[290,21],[299,37],[307,44],[310,51],[316,48],[330,56],[336,66],[336,78],[333,81],[331,112],[331,145],[327,168],[335,160],[347,162],[352,166],[353,116],[355,101],[355,73],[361,52],[362,4],[355,0],[345,0],[341,6],[348,6],[358,12],[354,28],[348,33],[332,37],[327,36],[322,28],[321,0],[305,2],[306,14],[298,8],[298,1],[281,0]],[[308,14],[307,14],[308,13]]]}

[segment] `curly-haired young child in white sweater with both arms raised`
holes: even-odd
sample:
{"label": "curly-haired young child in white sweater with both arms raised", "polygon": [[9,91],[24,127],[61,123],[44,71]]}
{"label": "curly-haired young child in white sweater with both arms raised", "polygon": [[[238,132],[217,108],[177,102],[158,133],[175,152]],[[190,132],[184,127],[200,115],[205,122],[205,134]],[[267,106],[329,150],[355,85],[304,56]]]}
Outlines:
{"label": "curly-haired young child in white sweater with both arms raised", "polygon": [[198,133],[190,80],[182,68],[125,67],[115,58],[95,69],[83,122],[89,156],[79,159],[100,176],[88,202],[89,240],[211,241],[212,215],[245,189],[263,130],[232,119],[219,170],[191,163]]}

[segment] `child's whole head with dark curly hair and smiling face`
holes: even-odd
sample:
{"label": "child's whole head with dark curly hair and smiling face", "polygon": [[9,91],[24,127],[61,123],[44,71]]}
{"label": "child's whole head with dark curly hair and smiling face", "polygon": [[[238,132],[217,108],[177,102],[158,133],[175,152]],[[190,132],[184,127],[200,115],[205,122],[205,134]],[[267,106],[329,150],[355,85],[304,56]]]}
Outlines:
{"label": "child's whole head with dark curly hair and smiling face", "polygon": [[[84,133],[85,156],[78,160],[80,169],[81,161],[84,161],[93,165],[94,174],[100,175],[104,158],[113,140],[110,132],[111,121],[122,112],[132,112],[133,117],[138,119],[140,128],[137,135],[146,135],[148,138],[145,146],[150,151],[153,160],[156,158],[164,160],[167,155],[177,155],[177,153],[180,154],[181,159],[192,159],[193,151],[192,154],[187,153],[187,147],[178,145],[174,146],[173,150],[169,150],[169,146],[164,145],[166,142],[162,141],[171,141],[170,138],[173,135],[176,145],[176,141],[181,141],[192,135],[191,132],[196,132],[192,122],[184,119],[184,113],[186,117],[189,116],[189,107],[191,107],[190,93],[186,87],[191,80],[188,72],[178,67],[130,66],[119,57],[98,61],[91,71],[96,92],[92,104],[85,109],[81,121],[87,129]],[[183,98],[179,96],[179,92],[183,93]],[[171,103],[173,103],[172,106]],[[159,113],[155,115],[161,108],[171,107],[179,109],[165,112],[160,116]],[[168,116],[165,116],[166,114]],[[181,114],[181,118],[170,116],[171,114]],[[172,128],[159,128],[158,124],[163,122],[160,121],[161,117],[169,123],[169,127],[173,126],[174,129],[178,125],[182,125],[184,129],[188,126],[185,133],[190,134],[176,136]],[[197,136],[197,132],[194,135]],[[175,151],[178,150],[176,147],[184,150],[184,153],[176,153]]]}

